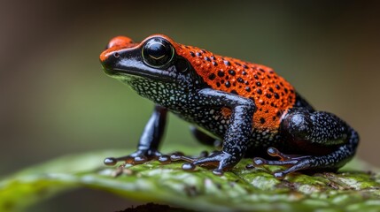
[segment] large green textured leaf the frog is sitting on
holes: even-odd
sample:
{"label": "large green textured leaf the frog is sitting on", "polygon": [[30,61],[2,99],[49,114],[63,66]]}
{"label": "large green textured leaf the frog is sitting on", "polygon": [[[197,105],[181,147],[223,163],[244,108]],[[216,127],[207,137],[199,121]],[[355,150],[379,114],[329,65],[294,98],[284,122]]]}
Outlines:
{"label": "large green textured leaf the frog is sitting on", "polygon": [[[193,155],[200,151],[175,149],[185,149],[186,154]],[[106,156],[124,153],[67,155],[4,178],[0,182],[0,210],[27,210],[37,201],[80,186],[202,211],[380,210],[380,174],[368,171],[368,165],[357,160],[338,173],[294,173],[283,180],[274,178],[266,169],[246,170],[250,159],[244,159],[222,177],[203,168],[183,171],[182,163],[158,162],[129,167],[114,177],[117,168],[105,167],[102,161]]]}

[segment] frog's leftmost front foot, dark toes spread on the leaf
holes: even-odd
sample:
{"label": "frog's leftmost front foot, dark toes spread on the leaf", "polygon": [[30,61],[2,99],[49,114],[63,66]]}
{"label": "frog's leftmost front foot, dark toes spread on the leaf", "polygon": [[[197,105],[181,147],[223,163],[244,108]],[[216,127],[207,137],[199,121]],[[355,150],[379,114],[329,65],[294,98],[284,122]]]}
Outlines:
{"label": "frog's leftmost front foot, dark toes spread on the leaf", "polygon": [[[158,150],[137,150],[131,155],[121,156],[121,157],[107,157],[105,158],[105,165],[113,166],[118,162],[123,162],[126,164],[137,165],[142,164],[151,160],[159,160],[162,163],[169,161],[167,155],[162,155]],[[169,161],[170,163],[170,161]]]}

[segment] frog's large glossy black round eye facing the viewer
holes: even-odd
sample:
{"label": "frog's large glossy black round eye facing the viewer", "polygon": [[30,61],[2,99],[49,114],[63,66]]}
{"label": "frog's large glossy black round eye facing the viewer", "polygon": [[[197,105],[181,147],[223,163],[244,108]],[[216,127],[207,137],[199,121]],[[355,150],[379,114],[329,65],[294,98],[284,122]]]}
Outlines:
{"label": "frog's large glossy black round eye facing the viewer", "polygon": [[170,63],[174,57],[173,46],[163,38],[151,38],[143,46],[143,62],[154,68]]}

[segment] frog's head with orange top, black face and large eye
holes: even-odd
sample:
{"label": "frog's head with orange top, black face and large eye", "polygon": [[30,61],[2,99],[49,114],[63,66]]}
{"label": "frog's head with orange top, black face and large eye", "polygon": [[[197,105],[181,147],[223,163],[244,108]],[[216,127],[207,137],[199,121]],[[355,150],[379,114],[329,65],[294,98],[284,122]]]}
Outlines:
{"label": "frog's head with orange top, black face and large eye", "polygon": [[100,55],[105,73],[117,79],[145,78],[162,82],[181,81],[191,75],[188,60],[176,53],[178,44],[162,34],[133,42],[113,38]]}

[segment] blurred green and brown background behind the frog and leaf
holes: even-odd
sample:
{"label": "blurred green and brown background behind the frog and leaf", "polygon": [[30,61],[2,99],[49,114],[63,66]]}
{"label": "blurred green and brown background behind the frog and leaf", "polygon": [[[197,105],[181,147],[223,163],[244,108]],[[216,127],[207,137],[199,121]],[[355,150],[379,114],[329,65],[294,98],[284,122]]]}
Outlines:
{"label": "blurred green and brown background behind the frog and leaf", "polygon": [[[105,76],[98,56],[113,36],[140,42],[156,33],[274,67],[318,110],[357,129],[359,157],[380,165],[376,1],[12,1],[0,18],[0,175],[59,155],[136,147],[152,103]],[[164,145],[177,143],[199,145],[171,116]],[[88,191],[51,202],[57,211],[94,196],[105,198],[104,210],[124,204]]]}

